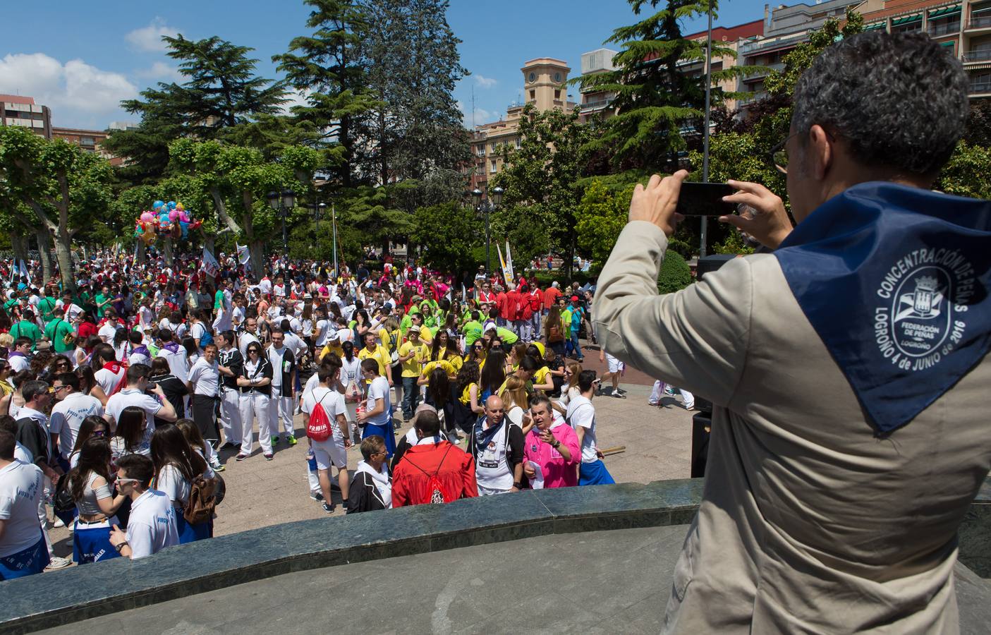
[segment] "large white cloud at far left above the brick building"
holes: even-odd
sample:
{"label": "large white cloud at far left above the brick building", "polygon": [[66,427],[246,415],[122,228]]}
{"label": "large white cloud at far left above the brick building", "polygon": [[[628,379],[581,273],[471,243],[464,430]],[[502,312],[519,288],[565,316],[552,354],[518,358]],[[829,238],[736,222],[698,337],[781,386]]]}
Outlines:
{"label": "large white cloud at far left above the brick building", "polygon": [[123,74],[82,59],[62,64],[45,53],[10,53],[0,58],[0,93],[34,97],[52,109],[55,126],[102,127],[104,119],[120,114],[122,99],[138,95],[138,88]]}

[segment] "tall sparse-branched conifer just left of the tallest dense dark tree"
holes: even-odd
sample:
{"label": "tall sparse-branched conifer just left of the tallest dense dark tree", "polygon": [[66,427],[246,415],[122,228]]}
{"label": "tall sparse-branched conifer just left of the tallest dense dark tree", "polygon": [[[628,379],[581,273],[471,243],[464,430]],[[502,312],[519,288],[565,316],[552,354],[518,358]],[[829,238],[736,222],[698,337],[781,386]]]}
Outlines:
{"label": "tall sparse-branched conifer just left of the tallest dense dark tree", "polygon": [[286,81],[308,95],[308,105],[292,111],[298,122],[319,131],[317,142],[331,152],[331,180],[357,185],[354,156],[357,120],[379,102],[366,86],[362,42],[369,29],[364,7],[349,0],[305,0],[313,7],[310,36],[293,38],[286,53],[274,55]]}

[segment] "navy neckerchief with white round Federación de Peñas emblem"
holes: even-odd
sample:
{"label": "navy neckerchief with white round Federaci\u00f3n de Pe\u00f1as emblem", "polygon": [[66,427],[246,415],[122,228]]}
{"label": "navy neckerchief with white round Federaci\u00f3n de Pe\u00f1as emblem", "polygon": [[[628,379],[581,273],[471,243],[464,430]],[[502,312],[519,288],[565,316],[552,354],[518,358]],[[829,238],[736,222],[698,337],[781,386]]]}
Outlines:
{"label": "navy neckerchief with white round Federaci\u00f3n de Pe\u00f1as emblem", "polygon": [[861,183],[774,255],[880,433],[914,419],[991,346],[991,201]]}

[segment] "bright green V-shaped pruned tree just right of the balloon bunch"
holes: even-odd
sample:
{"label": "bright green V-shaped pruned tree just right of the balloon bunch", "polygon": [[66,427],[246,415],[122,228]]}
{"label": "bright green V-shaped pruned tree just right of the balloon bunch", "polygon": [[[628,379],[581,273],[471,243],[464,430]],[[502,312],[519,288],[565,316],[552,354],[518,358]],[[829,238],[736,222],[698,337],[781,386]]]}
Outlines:
{"label": "bright green V-shaped pruned tree just right of the balloon bunch", "polygon": [[175,171],[194,179],[189,186],[208,193],[221,223],[248,243],[257,276],[264,270],[264,244],[274,235],[279,220],[266,193],[291,188],[302,197],[310,189],[318,153],[293,147],[267,161],[253,148],[190,139],[173,142],[169,153]]}

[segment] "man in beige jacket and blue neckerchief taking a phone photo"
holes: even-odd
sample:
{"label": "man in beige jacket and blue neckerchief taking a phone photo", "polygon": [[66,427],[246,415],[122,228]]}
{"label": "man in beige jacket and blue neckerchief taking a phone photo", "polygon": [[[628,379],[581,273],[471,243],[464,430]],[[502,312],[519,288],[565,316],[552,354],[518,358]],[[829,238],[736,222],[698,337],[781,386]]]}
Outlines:
{"label": "man in beige jacket and blue neckerchief taking a phone photo", "polygon": [[773,156],[798,225],[729,181],[757,213],[719,220],[775,251],[677,293],[656,279],[687,172],[636,187],[597,334],[714,405],[664,632],[957,632],[956,530],[991,468],[991,204],[931,188],[967,90],[925,34],[827,48]]}

